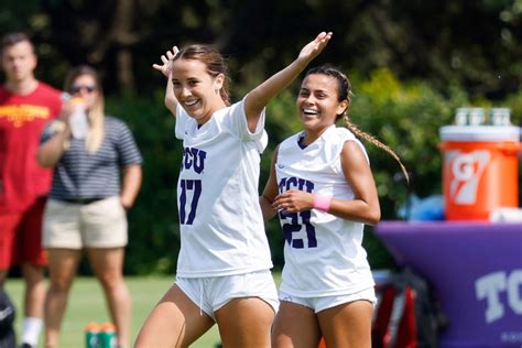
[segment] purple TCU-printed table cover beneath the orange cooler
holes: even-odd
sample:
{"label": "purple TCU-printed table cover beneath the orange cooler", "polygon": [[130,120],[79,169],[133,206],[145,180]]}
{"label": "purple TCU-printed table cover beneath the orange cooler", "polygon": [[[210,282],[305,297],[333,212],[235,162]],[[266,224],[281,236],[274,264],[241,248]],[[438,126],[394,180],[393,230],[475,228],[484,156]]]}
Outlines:
{"label": "purple TCU-printed table cover beneath the orange cooler", "polygon": [[441,347],[522,347],[522,224],[382,221],[401,265],[431,281],[449,326]]}

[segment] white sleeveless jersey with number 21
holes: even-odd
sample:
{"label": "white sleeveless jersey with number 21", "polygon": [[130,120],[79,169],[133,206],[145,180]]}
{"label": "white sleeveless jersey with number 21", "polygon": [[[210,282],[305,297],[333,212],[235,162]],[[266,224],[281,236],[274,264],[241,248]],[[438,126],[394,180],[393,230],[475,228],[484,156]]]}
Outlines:
{"label": "white sleeveless jersey with number 21", "polygon": [[[300,189],[339,199],[354,198],[340,163],[346,141],[362,144],[346,128],[329,127],[306,148],[303,132],[283,141],[275,163],[279,192]],[[368,159],[368,156],[367,156]],[[279,214],[284,260],[281,291],[300,297],[356,293],[374,285],[361,246],[363,224],[311,209]]]}

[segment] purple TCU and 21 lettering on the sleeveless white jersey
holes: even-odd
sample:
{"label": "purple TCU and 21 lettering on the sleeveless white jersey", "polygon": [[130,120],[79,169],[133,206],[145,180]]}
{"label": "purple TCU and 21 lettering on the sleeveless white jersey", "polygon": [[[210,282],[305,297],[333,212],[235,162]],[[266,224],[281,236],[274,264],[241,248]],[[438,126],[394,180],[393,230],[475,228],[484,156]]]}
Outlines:
{"label": "purple TCU and 21 lettering on the sleeveless white jersey", "polygon": [[[305,191],[307,193],[314,192],[314,183],[306,181],[304,178],[291,176],[283,177],[279,183],[280,194],[289,189],[298,189]],[[304,210],[300,213],[286,214],[284,211],[279,211],[279,217],[281,219],[281,225],[283,228],[284,239],[295,249],[303,249],[305,247],[304,236],[302,233],[303,227],[306,231],[307,248],[317,248],[317,238],[315,236],[315,227],[309,221],[312,216],[311,210]],[[286,222],[289,221],[290,222]]]}

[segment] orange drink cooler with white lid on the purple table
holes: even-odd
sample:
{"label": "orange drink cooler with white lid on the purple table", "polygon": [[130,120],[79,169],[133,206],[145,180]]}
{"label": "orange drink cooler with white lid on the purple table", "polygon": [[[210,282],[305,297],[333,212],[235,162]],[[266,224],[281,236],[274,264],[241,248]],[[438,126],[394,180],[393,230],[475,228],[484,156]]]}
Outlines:
{"label": "orange drink cooler with white lid on the purple table", "polygon": [[489,220],[519,206],[519,127],[445,126],[439,134],[447,220]]}

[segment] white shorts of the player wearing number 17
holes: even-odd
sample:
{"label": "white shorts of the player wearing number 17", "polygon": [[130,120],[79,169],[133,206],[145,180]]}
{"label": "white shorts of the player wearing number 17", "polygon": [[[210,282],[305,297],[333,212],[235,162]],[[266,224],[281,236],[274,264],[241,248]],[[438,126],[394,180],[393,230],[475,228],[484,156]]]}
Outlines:
{"label": "white shorts of the player wearing number 17", "polygon": [[259,297],[274,313],[279,309],[278,290],[270,270],[225,276],[176,278],[176,285],[214,320],[214,313],[233,298]]}

